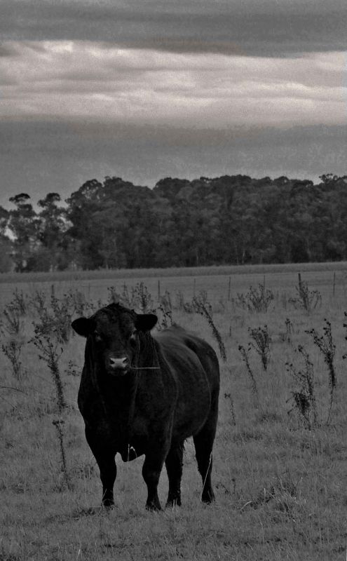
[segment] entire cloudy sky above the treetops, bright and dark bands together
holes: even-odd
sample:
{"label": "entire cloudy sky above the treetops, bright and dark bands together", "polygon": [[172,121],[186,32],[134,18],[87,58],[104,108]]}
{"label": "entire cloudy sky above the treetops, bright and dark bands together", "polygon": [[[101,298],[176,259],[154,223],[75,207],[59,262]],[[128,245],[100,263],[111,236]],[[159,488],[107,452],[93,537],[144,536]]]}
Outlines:
{"label": "entire cloudy sky above the treetops, bright and dark bands together", "polygon": [[346,0],[1,0],[0,205],[347,175]]}

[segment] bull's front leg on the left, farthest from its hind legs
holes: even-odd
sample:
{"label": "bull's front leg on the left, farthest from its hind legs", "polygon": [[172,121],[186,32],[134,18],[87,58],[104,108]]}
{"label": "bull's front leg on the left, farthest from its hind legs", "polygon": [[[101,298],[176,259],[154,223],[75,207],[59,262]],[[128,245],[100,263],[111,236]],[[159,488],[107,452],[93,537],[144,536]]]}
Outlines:
{"label": "bull's front leg on the left, farthest from its hind legs", "polygon": [[87,429],[86,438],[100,469],[102,504],[109,508],[114,506],[114,482],[117,475],[116,461],[114,459],[116,451],[108,442],[100,442],[100,438],[95,438],[95,435]]}

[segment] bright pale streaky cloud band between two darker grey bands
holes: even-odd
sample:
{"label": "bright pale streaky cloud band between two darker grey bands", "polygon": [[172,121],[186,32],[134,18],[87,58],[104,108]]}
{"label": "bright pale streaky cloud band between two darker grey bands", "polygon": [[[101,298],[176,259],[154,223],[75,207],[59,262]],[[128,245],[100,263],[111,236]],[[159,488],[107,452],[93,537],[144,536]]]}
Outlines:
{"label": "bright pale streaky cloud band between two darker grey bands", "polygon": [[260,58],[79,41],[4,46],[12,53],[0,58],[7,119],[197,128],[346,123],[342,53]]}

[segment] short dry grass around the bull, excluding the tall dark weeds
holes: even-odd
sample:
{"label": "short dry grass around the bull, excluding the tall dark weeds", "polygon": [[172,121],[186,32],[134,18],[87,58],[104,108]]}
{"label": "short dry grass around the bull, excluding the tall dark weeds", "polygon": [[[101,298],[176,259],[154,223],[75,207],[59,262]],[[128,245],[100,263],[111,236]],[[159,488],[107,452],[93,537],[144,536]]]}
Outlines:
{"label": "short dry grass around the bull, excluding the tall dark weeds", "polygon": [[[297,283],[295,271],[283,271],[282,278],[278,271],[266,273],[266,287],[275,292],[266,313],[250,313],[228,302],[228,276],[196,276],[196,290],[207,290],[213,321],[226,348],[226,363],[221,361],[222,390],[213,468],[217,501],[212,506],[200,502],[200,478],[189,440],[184,455],[183,506],[161,513],[144,509],[142,459],[130,464],[118,459],[116,508],[109,513],[100,509],[97,466],[76,408],[79,376],[75,371],[79,372],[83,363],[83,340],[74,335],[62,345],[59,359],[68,405],[63,413],[70,482],[67,487],[61,469],[60,442],[53,425],[57,419],[55,387],[47,364],[38,359],[36,348],[28,343],[34,333],[34,311],[29,310],[22,319],[24,327],[20,334],[25,344],[21,352],[25,375],[15,379],[10,361],[3,353],[0,356],[0,386],[10,387],[0,388],[0,560],[344,560],[344,273],[336,273],[334,298],[332,269],[310,274],[310,287],[322,293],[322,307],[310,315],[288,303]],[[264,275],[257,275],[252,272],[233,276],[231,296],[261,282]],[[138,276],[132,283],[135,285],[139,280],[146,282]],[[172,295],[175,290],[182,290],[187,300],[193,297],[191,277],[166,280],[166,284],[162,280],[162,293],[172,288]],[[152,281],[153,287],[149,284],[148,288],[155,300],[157,280],[153,277]],[[107,285],[111,284],[117,285],[105,279],[101,298],[107,297]],[[33,292],[35,288],[31,285],[23,290]],[[61,288],[61,292],[56,291],[57,296],[68,285]],[[96,302],[99,294],[89,297]],[[200,333],[218,351],[205,318],[177,309],[172,316],[177,323]],[[287,318],[292,325],[290,337],[286,336]],[[299,368],[296,349],[299,344],[305,347],[315,373],[318,417],[325,420],[330,405],[329,372],[324,356],[306,333],[312,329],[322,332],[325,318],[331,322],[336,345],[337,386],[329,426],[322,422],[309,431],[295,408],[288,414],[292,403],[287,400],[294,386],[285,363]],[[238,346],[247,348],[249,329],[261,325],[268,326],[271,336],[271,360],[264,371],[259,355],[254,349],[250,351],[250,366],[257,381],[255,400]],[[167,478],[163,472],[159,489],[163,502],[166,493]]]}

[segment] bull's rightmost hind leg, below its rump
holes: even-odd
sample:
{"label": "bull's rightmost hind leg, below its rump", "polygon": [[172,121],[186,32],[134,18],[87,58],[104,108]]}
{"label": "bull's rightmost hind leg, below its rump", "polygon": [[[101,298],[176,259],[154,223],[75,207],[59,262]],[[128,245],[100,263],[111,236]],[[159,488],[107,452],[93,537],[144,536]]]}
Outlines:
{"label": "bull's rightmost hind leg, below its rump", "polygon": [[200,433],[193,436],[195,445],[196,461],[198,470],[203,480],[203,493],[201,499],[204,503],[211,503],[215,500],[212,490],[211,471],[212,471],[212,447],[215,440],[217,414],[213,414],[207,419]]}

